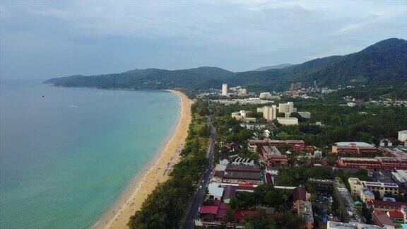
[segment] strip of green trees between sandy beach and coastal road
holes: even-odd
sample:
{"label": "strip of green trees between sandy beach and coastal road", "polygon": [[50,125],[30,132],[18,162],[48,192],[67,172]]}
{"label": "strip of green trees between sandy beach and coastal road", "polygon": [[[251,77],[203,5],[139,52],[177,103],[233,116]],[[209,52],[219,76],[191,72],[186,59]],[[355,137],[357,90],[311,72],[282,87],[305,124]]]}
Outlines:
{"label": "strip of green trees between sandy beach and coastal road", "polygon": [[193,115],[182,158],[170,172],[170,178],[158,184],[141,209],[131,216],[129,228],[179,228],[189,197],[196,190],[196,181],[208,163],[208,127],[204,117],[196,112]]}

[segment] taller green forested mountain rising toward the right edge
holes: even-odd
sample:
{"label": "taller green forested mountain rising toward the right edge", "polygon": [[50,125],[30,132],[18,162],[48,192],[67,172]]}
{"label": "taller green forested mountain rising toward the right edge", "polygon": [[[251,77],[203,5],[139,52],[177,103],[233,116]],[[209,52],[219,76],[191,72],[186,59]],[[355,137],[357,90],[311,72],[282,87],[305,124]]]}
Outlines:
{"label": "taller green forested mountain rising toward the right edge", "polygon": [[249,71],[237,74],[229,83],[284,90],[291,82],[311,86],[375,85],[407,81],[407,41],[391,38],[360,52],[313,59],[285,69]]}

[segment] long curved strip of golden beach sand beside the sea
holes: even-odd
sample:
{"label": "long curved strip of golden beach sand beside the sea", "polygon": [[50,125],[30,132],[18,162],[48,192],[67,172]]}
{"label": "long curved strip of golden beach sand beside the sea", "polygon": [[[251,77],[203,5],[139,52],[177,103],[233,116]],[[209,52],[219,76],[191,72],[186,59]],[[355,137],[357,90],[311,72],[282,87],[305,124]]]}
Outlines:
{"label": "long curved strip of golden beach sand beside the sea", "polygon": [[164,182],[168,179],[168,174],[179,160],[179,153],[184,146],[185,139],[188,136],[189,123],[191,122],[191,104],[186,95],[177,90],[169,90],[177,94],[181,110],[177,120],[177,126],[167,141],[163,151],[158,153],[155,158],[146,165],[134,179],[122,196],[110,207],[102,218],[93,228],[128,228],[130,216],[141,208],[144,199],[151,194],[158,182]]}

